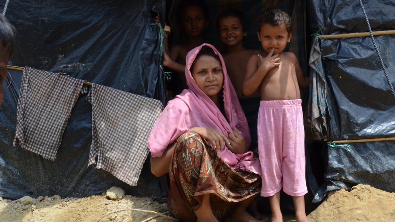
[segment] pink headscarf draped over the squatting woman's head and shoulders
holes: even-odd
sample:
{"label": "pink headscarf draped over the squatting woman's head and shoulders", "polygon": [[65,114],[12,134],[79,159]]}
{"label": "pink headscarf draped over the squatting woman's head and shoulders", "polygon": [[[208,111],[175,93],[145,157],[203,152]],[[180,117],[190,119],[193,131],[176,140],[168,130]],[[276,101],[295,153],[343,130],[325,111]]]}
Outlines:
{"label": "pink headscarf draped over the squatting woman's head and shoulders", "polygon": [[[222,71],[224,73],[224,108],[229,122],[209,96],[199,88],[194,78],[192,78],[190,67],[203,46],[211,47],[220,57]],[[217,49],[210,44],[203,44],[192,49],[186,55],[185,76],[189,89],[184,89],[180,95],[177,95],[175,99],[167,103],[152,128],[148,139],[148,147],[152,157],[162,156],[169,144],[175,142],[179,136],[193,127],[216,129],[225,136],[228,136],[229,133],[233,134],[233,127],[236,127],[245,137],[247,147],[250,146],[251,138],[246,117],[226,72],[224,59],[222,59]],[[261,168],[259,161],[253,157],[252,152],[234,154],[225,147],[225,150],[218,151],[218,154],[226,163],[235,169],[260,174]]]}

